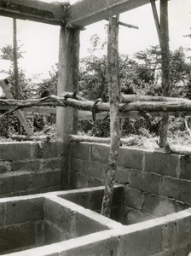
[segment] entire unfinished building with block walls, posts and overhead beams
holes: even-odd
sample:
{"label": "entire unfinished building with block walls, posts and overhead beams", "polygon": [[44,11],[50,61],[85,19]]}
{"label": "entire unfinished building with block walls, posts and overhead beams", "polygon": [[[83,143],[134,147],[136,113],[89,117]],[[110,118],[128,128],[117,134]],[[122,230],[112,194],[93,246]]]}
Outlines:
{"label": "entire unfinished building with block walls, posts and overhead beams", "polygon": [[[155,98],[157,105],[147,96],[121,96],[118,79],[118,15],[148,3],[162,49],[165,98]],[[163,112],[164,148],[169,113],[191,109],[190,101],[168,97],[167,3],[160,0],[159,20],[154,0],[82,0],[72,5],[0,0],[0,15],[61,26],[58,96],[30,104],[0,101],[17,111],[56,106],[57,138],[0,143],[0,254],[187,256],[191,252],[190,152],[119,147],[119,119],[129,117],[131,111]],[[95,105],[76,94],[79,34],[84,26],[103,19],[109,19],[110,104]],[[81,142],[75,135],[78,109],[95,106],[97,112],[110,111],[110,146],[87,137]],[[102,211],[108,190],[112,190],[109,214]]]}

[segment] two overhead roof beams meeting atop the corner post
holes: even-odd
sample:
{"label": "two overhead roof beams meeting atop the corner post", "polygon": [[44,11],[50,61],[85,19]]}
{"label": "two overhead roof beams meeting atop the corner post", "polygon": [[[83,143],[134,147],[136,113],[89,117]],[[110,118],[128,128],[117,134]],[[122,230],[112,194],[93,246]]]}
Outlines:
{"label": "two overhead roof beams meeting atop the corner post", "polygon": [[96,21],[136,9],[150,0],[81,0],[70,5],[39,0],[0,0],[0,15],[52,25],[87,26]]}

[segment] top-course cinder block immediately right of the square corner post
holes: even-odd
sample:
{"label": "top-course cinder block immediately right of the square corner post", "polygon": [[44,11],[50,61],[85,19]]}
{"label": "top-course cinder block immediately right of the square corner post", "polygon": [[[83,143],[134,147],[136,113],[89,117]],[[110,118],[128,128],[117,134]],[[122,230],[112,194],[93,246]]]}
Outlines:
{"label": "top-course cinder block immediately right of the square corner post", "polygon": [[91,143],[71,143],[71,157],[90,160]]}

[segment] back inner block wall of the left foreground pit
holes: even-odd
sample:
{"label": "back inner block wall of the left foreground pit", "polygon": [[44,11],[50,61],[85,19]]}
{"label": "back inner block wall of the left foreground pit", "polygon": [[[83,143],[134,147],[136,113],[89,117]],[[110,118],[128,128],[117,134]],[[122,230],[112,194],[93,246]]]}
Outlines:
{"label": "back inner block wall of the left foreground pit", "polygon": [[0,201],[0,254],[43,245],[43,198]]}

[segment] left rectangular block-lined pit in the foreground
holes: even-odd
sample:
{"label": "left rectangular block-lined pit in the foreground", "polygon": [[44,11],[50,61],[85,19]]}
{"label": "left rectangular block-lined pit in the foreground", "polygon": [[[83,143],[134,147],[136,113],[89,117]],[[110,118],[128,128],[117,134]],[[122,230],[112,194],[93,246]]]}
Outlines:
{"label": "left rectangular block-lined pit in the foreground", "polygon": [[[0,200],[0,254],[42,247],[107,230],[107,226],[43,196]],[[85,228],[84,228],[85,224]]]}

